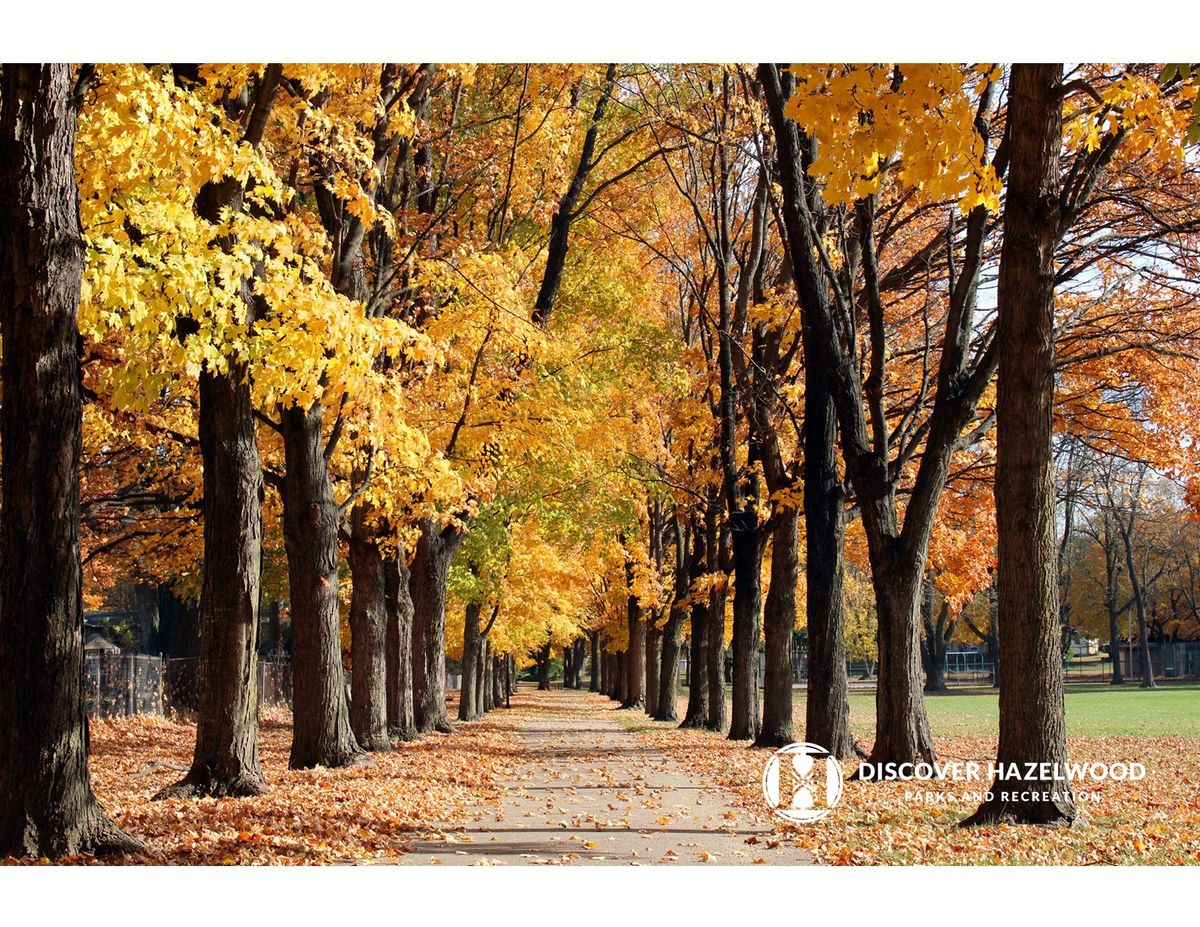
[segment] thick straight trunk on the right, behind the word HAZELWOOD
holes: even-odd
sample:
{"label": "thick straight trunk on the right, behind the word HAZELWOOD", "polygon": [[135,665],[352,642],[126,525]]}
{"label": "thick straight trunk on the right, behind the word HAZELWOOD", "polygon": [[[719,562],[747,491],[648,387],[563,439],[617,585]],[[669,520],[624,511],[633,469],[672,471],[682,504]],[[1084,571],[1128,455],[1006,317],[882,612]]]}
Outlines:
{"label": "thick straight trunk on the right, behind the word HAZELWOOD", "polygon": [[[1076,817],[1066,778],[1052,454],[1061,84],[1061,65],[1014,65],[1009,83],[1012,161],[996,321],[1001,772],[991,797],[965,824],[1070,824]],[[1004,775],[1027,764],[1050,764],[1051,773]]]}

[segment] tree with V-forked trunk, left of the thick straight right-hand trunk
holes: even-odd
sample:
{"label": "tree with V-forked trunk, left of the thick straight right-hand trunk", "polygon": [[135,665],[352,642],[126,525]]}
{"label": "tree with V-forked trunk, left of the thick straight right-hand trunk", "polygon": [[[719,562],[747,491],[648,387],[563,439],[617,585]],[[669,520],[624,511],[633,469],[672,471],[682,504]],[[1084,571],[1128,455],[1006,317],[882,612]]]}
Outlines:
{"label": "tree with V-forked trunk, left of the thick straight right-hand trunk", "polygon": [[[954,67],[816,66],[802,70],[786,110],[800,132],[793,156],[779,162],[786,189],[796,191],[785,196],[781,208],[790,238],[799,243],[791,257],[804,285],[818,360],[814,366],[829,378],[876,593],[880,681],[872,764],[934,758],[920,694],[920,580],[952,459],[973,442],[970,426],[995,371],[995,351],[988,345],[991,333],[976,323],[976,300],[989,207],[996,205],[1003,159],[997,155],[992,163],[988,145],[995,95],[990,77],[977,83],[972,100],[967,79]],[[936,102],[926,106],[929,98]],[[876,118],[829,120],[830,106],[872,109]],[[781,124],[782,116],[776,115],[775,122]],[[900,151],[881,156],[884,145],[906,149],[902,159]],[[902,165],[899,175],[892,172],[896,165]],[[889,195],[893,180],[900,186]],[[916,203],[905,193],[910,185],[920,190]],[[919,228],[928,215],[923,204],[940,196],[960,202],[967,214],[965,232],[950,211],[944,238],[926,232],[914,244],[908,234],[890,234]],[[898,207],[904,219],[893,211]],[[845,245],[832,249],[827,235]],[[940,306],[941,352],[936,359],[934,351],[922,352],[924,361],[901,393],[904,400],[893,401],[889,409],[888,341],[902,330],[895,313],[911,293],[902,281],[926,276],[930,259],[947,251],[947,240],[953,244],[947,299]],[[893,257],[889,268],[890,246],[911,250]],[[905,295],[889,297],[894,285],[896,294]],[[859,305],[866,309],[868,324],[862,329]],[[929,316],[919,311],[916,316],[924,319],[928,342]],[[919,464],[910,476],[907,465],[918,449]],[[906,478],[912,483],[901,509],[898,497]]]}

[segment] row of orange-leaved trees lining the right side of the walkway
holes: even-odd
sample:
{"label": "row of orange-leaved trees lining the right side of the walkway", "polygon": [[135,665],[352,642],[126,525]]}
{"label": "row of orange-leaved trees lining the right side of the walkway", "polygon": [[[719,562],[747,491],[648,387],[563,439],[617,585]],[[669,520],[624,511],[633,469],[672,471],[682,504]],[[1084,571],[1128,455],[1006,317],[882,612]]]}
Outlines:
{"label": "row of orange-leaved trees lining the right side of the walkway", "polygon": [[[692,610],[698,684],[689,720],[704,713],[692,711],[704,686],[709,699],[721,698],[720,677],[701,681],[696,668],[702,652],[721,646],[722,624],[706,632],[703,622],[724,614],[732,578],[730,736],[792,740],[788,651],[803,586],[805,737],[852,756],[842,675],[848,551],[874,586],[874,768],[935,759],[922,626],[926,641],[938,624],[944,635],[992,582],[998,628],[984,635],[998,636],[1009,658],[1000,662],[1001,759],[1064,758],[1054,450],[1072,442],[1123,449],[1176,482],[1196,472],[1187,427],[1198,216],[1183,192],[1194,193],[1195,88],[1156,67],[1016,73],[1037,84],[1026,88],[1038,98],[1025,101],[1037,113],[1024,127],[1014,127],[1010,74],[992,66],[764,65],[707,82],[688,68],[671,74],[671,101],[690,103],[690,119],[671,139],[680,154],[665,159],[665,171],[685,207],[643,240],[671,268],[680,301],[696,306],[682,334],[695,346],[692,397],[708,408],[678,409],[668,460],[650,462],[674,490],[674,510],[664,521],[647,504],[642,561],[679,591],[689,558],[704,551],[712,560],[688,594],[647,594],[629,570],[625,626],[608,633],[628,654],[607,683],[623,705],[644,700],[654,717],[673,717],[677,603]],[[1019,181],[1009,175],[1018,165]],[[1004,418],[995,375],[1006,352],[1015,397],[1007,467],[994,432]],[[708,441],[689,441],[689,429]],[[697,488],[703,473],[707,497]],[[703,545],[690,540],[714,520]],[[661,569],[671,546],[673,578]],[[940,622],[923,609],[932,585]],[[1067,800],[1001,802],[973,820],[1073,819],[1061,782],[1044,791]]]}

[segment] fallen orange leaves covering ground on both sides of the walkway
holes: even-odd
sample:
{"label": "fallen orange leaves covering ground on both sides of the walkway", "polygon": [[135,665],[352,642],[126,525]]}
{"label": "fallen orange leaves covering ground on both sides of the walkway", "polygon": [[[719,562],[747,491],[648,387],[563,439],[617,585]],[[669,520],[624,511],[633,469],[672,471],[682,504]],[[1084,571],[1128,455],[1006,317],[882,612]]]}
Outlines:
{"label": "fallen orange leaves covering ground on both sides of the walkway", "polygon": [[[1166,693],[1194,699],[1195,690]],[[938,756],[978,760],[995,753],[995,734],[974,730],[971,696],[931,700]],[[1096,694],[1097,700],[1104,699]],[[1103,704],[1116,708],[1123,699]],[[1120,725],[1153,712],[1154,694],[1136,694]],[[1068,696],[1070,700],[1070,696]],[[572,699],[574,701],[574,699]],[[869,743],[870,719],[852,698],[852,726]],[[865,702],[863,702],[865,704]],[[983,704],[983,702],[979,702]],[[510,711],[458,724],[454,735],[431,735],[368,764],[346,770],[287,768],[290,717],[264,719],[263,771],[271,787],[257,799],[150,801],[176,781],[191,759],[194,726],[157,717],[97,720],[91,726],[92,783],[101,803],[128,832],[151,847],[125,863],[362,863],[396,860],[422,837],[446,839],[443,825],[492,814],[503,783],[520,778],[528,759],[515,731],[539,710],[536,694],[518,696]],[[1128,707],[1132,706],[1132,707]],[[545,707],[545,706],[540,706]],[[680,701],[680,708],[683,702]],[[1073,761],[1138,761],[1142,782],[1087,783],[1098,801],[1084,803],[1088,826],[1076,830],[1016,826],[962,830],[956,823],[976,802],[919,802],[912,793],[949,796],[989,783],[847,782],[841,805],[823,821],[788,825],[762,801],[767,750],[732,743],[721,735],[679,730],[641,712],[616,711],[613,702],[582,695],[571,706],[581,717],[617,719],[630,737],[683,764],[702,784],[719,788],[737,808],[727,817],[775,827],[769,838],[748,837],[766,857],[799,847],[817,862],[834,865],[1181,865],[1200,863],[1200,737],[1087,734],[1070,737]],[[802,718],[802,714],[797,714]],[[1079,714],[1076,714],[1079,717]],[[803,725],[802,725],[803,726]],[[1181,725],[1189,735],[1187,725]],[[798,731],[799,736],[799,731]],[[568,744],[564,743],[564,748]],[[844,764],[847,773],[854,764]],[[732,823],[731,825],[736,824]],[[68,860],[90,862],[89,859]]]}

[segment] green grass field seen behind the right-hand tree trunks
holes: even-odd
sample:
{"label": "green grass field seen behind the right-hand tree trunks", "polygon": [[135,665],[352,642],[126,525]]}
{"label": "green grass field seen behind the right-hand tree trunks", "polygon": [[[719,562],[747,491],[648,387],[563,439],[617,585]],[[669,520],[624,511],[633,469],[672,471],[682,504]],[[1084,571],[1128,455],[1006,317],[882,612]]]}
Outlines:
{"label": "green grass field seen behind the right-hand tree trunks", "polygon": [[[952,688],[926,695],[935,736],[997,732],[997,692],[990,687]],[[796,694],[797,718],[804,717],[804,692]],[[850,720],[856,732],[875,725],[875,692],[851,690]],[[1200,737],[1200,683],[1162,682],[1157,689],[1136,684],[1067,684],[1067,734],[1140,737]]]}

